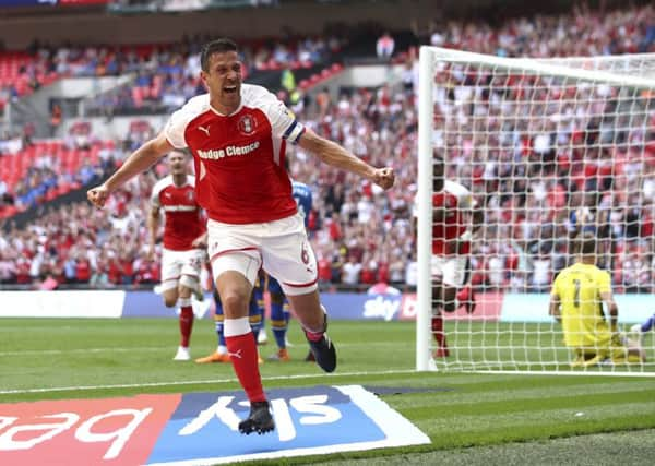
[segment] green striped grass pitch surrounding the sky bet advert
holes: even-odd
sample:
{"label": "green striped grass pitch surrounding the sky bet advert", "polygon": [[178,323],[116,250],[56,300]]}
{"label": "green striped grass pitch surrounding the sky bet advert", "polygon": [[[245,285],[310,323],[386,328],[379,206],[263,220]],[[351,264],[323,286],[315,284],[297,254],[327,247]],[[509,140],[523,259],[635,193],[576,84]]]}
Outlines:
{"label": "green striped grass pitch surrounding the sky bet advert", "polygon": [[[458,324],[456,333],[453,325],[446,325],[452,347],[463,351],[468,346],[490,347],[468,350],[467,357],[537,361],[529,369],[552,369],[539,361],[563,358],[565,373],[418,373],[414,371],[414,323],[333,321],[330,334],[340,363],[334,374],[326,375],[302,361],[307,345],[298,325],[291,323],[293,360],[261,366],[266,389],[317,384],[427,389],[381,397],[426,432],[432,443],[267,464],[591,465],[611,464],[614,456],[615,464],[652,464],[655,377],[598,375],[598,371],[571,374],[580,371],[568,369],[565,351],[544,355],[539,350],[540,344],[551,345],[561,340],[561,335],[547,335],[537,324],[511,328],[492,324],[499,335],[492,342],[483,339],[489,338],[483,332],[489,323]],[[528,349],[516,353],[509,347],[516,342],[508,338],[521,338]],[[229,365],[174,362],[177,340],[177,322],[171,319],[2,319],[0,403],[239,387]],[[500,349],[491,347],[497,343]],[[213,322],[196,321],[193,357],[205,356],[215,345]],[[645,346],[653,361],[653,335],[647,336]],[[272,343],[260,348],[264,357],[274,350]],[[653,366],[646,369],[655,372]]]}

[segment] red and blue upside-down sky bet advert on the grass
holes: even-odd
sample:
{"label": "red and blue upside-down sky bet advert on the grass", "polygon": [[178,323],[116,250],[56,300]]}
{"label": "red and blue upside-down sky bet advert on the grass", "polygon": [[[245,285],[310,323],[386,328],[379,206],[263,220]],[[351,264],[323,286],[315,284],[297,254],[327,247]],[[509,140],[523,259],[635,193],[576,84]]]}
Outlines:
{"label": "red and blue upside-down sky bet advert on the grass", "polygon": [[0,405],[0,464],[184,466],[429,443],[359,385],[267,394],[265,435],[238,433],[240,392]]}

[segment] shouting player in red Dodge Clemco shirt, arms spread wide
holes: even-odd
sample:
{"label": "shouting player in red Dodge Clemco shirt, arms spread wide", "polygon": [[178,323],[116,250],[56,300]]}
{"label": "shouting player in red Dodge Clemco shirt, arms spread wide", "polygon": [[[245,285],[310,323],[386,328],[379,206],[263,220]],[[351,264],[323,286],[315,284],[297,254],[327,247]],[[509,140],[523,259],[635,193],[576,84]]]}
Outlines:
{"label": "shouting player in red Dodge Clemco shirt, arms spread wide", "polygon": [[318,292],[317,262],[284,167],[286,144],[298,144],[323,163],[367,178],[383,189],[392,168],[374,168],[296,120],[265,88],[241,83],[235,43],[217,39],[201,52],[207,94],[172,113],[164,131],[138,148],[105,183],[88,191],[100,207],[119,186],[172,148],[189,147],[195,164],[195,193],[209,222],[209,252],[225,312],[225,339],[250,415],[242,433],[275,428],[258,368],[248,304],[257,273],[275,277],[302,327],[318,365],[336,368],[336,350],[325,334],[326,312]]}

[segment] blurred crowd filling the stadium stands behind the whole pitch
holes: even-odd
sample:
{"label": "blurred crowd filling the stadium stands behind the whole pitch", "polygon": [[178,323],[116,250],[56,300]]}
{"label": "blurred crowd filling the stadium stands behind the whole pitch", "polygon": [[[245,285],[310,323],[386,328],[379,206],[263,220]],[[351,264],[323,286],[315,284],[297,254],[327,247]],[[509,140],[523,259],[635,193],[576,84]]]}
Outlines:
{"label": "blurred crowd filling the stadium stands behind the whole pitch", "polygon": [[[428,27],[408,24],[406,31],[362,27],[240,41],[246,82],[271,87],[312,130],[372,165],[396,170],[396,186],[382,192],[291,150],[293,178],[313,191],[309,230],[324,289],[416,285],[412,213],[419,45],[534,58],[655,52],[655,9],[647,4],[572,8],[496,22],[436,19]],[[29,122],[5,130],[0,141],[1,286],[152,287],[158,282],[159,264],[146,254],[146,216],[165,164],[131,181],[105,210],[92,208],[81,196],[160,129],[143,116],[165,115],[203,92],[198,51],[211,37],[131,46],[39,39],[26,51],[0,53],[0,106],[5,107],[20,106],[58,80],[130,75],[85,99],[74,124],[64,124],[67,103],[52,100],[49,134],[39,136]],[[398,71],[378,85],[329,88],[331,79],[362,63]],[[655,71],[655,59],[644,58],[643,67]],[[612,271],[616,288],[654,291],[652,99],[626,96],[614,86],[493,76],[481,67],[444,67],[434,79],[436,147],[446,157],[448,177],[467,186],[485,211],[472,255],[478,290],[546,291],[553,274],[570,263],[570,238],[592,229],[602,238],[599,262]],[[126,131],[108,138],[96,131],[92,117],[107,124],[131,119]]]}

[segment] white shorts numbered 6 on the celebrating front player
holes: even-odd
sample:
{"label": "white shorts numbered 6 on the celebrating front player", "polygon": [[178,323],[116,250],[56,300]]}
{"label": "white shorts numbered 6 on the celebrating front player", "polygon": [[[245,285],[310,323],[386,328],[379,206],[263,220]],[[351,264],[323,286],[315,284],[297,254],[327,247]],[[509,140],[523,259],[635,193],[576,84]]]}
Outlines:
{"label": "white shorts numbered 6 on the celebrating front player", "polygon": [[276,278],[285,295],[315,290],[317,259],[300,214],[262,224],[231,225],[207,222],[212,273],[236,271],[254,285],[260,267]]}

